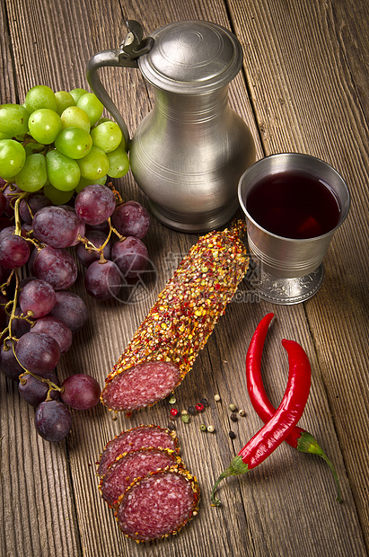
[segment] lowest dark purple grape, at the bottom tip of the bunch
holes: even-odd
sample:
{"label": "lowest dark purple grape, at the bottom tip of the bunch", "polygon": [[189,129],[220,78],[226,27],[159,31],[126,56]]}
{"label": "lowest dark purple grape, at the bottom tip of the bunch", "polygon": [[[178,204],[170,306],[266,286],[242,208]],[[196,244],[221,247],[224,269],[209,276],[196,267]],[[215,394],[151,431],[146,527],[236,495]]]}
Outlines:
{"label": "lowest dark purple grape, at the bottom tip of the bunch", "polygon": [[72,429],[72,414],[63,402],[41,402],[35,412],[35,428],[41,438],[58,443]]}

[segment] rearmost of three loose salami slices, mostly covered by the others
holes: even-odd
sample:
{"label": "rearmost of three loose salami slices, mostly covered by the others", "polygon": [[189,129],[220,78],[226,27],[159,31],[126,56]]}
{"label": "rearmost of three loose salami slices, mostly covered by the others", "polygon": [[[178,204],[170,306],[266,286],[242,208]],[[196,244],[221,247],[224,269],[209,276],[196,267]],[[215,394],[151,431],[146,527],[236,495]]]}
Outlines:
{"label": "rearmost of three loose salami slices, mostly covered by the others", "polygon": [[119,436],[112,439],[104,448],[97,473],[103,476],[110,464],[120,455],[137,451],[140,448],[166,448],[180,454],[178,438],[174,431],[163,429],[153,424],[140,425],[136,428],[126,429]]}

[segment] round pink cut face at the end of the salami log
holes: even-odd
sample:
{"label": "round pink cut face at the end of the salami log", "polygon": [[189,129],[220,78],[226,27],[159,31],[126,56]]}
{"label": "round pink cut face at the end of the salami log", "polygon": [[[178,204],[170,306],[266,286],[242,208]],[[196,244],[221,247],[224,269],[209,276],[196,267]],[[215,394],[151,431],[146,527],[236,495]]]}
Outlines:
{"label": "round pink cut face at the end of the salami log", "polygon": [[101,401],[116,411],[136,411],[165,398],[179,383],[180,368],[172,362],[138,364],[112,377]]}

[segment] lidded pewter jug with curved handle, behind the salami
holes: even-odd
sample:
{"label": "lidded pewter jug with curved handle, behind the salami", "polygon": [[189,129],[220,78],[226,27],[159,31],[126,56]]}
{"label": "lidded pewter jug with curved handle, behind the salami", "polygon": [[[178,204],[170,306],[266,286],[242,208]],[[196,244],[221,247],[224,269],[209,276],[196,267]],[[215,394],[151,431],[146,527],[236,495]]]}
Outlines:
{"label": "lidded pewter jug with curved handle, behind the salami", "polygon": [[[145,39],[140,23],[130,20],[127,29],[119,49],[90,59],[87,79],[123,132],[136,183],[164,225],[193,233],[224,225],[256,156],[250,129],[228,104],[241,44],[212,22],[174,22]],[[154,109],[132,139],[97,75],[101,66],[138,67],[154,87]]]}

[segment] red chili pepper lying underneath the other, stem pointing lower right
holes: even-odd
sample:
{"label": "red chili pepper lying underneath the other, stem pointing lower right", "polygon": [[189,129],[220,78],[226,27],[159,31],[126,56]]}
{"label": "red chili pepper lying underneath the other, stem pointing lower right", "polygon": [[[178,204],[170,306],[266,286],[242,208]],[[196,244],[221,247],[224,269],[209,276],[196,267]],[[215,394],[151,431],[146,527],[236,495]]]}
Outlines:
{"label": "red chili pepper lying underneath the other, stem pointing lower right", "polygon": [[[268,399],[261,376],[261,358],[264,348],[265,339],[268,333],[268,326],[273,319],[274,314],[267,314],[260,321],[256,331],[254,332],[250,341],[250,346],[246,356],[246,378],[247,388],[250,394],[250,401],[254,410],[258,412],[259,418],[264,422],[270,420],[275,413],[276,409]],[[302,453],[311,453],[312,455],[319,455],[329,465],[333,477],[337,484],[337,500],[342,500],[341,488],[339,485],[338,475],[333,464],[330,462],[328,456],[324,453],[319,446],[318,441],[312,437],[312,434],[305,429],[296,426],[291,433],[286,437],[286,443],[294,446]]]}

